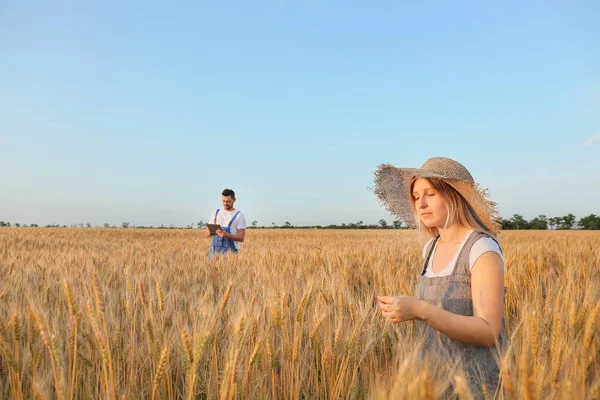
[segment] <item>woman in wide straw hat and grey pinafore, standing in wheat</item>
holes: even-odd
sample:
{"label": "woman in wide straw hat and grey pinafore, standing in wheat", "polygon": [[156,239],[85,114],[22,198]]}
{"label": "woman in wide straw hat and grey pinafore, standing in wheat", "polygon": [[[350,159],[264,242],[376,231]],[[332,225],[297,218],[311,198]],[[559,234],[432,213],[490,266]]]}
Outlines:
{"label": "woman in wide straw hat and grey pinafore, standing in wheat", "polygon": [[443,157],[419,169],[380,166],[375,193],[392,214],[431,237],[418,298],[377,296],[382,315],[418,320],[428,356],[460,365],[475,398],[498,393],[506,268],[495,203],[463,165]]}

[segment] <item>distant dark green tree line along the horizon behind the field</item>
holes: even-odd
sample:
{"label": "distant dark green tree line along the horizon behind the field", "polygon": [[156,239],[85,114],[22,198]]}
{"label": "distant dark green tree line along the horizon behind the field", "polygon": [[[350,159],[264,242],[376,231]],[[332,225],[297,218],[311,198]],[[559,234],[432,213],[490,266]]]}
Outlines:
{"label": "distant dark green tree line along the horizon behind the field", "polygon": [[[503,230],[517,230],[517,229],[532,229],[532,230],[570,230],[570,229],[583,229],[583,230],[600,230],[600,216],[596,214],[590,214],[587,217],[583,217],[579,220],[575,215],[569,213],[562,217],[546,217],[545,215],[538,215],[537,217],[527,221],[522,215],[514,214],[509,219],[500,218],[498,220],[502,225]],[[38,228],[38,224],[20,224],[0,221],[0,227],[34,227]],[[123,222],[120,226],[110,225],[105,223],[102,226],[95,226],[95,228],[137,228],[137,229],[194,229],[204,228],[206,223],[199,221],[198,223],[191,223],[186,226],[175,226],[170,224],[169,226],[135,226],[129,222]],[[46,225],[46,228],[92,228],[90,223],[80,223],[67,225]],[[275,222],[271,222],[269,225],[258,225],[258,221],[254,220],[248,226],[251,229],[408,229],[408,227],[399,220],[388,223],[385,219],[380,219],[377,223],[366,224],[363,221],[349,222],[342,224],[330,224],[330,225],[293,225],[289,221],[285,221],[283,224],[278,225]]]}

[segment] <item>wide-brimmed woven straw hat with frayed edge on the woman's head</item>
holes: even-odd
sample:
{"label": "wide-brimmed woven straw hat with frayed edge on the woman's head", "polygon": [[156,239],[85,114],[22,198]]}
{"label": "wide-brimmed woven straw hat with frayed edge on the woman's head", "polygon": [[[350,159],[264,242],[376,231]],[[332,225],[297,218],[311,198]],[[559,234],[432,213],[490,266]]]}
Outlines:
{"label": "wide-brimmed woven straw hat with frayed edge on the woman's head", "polygon": [[471,173],[459,162],[445,157],[433,157],[425,161],[421,168],[396,168],[382,164],[375,172],[373,191],[379,202],[393,215],[407,225],[416,228],[416,219],[409,188],[413,178],[439,178],[452,186],[469,204],[475,219],[492,234],[500,231],[496,203],[488,199],[487,189],[481,189]]}

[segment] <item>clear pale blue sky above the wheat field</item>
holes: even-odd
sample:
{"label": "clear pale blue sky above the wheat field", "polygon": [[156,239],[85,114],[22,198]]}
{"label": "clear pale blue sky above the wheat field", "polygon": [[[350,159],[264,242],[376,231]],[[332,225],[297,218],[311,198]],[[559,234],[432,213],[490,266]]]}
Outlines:
{"label": "clear pale blue sky above the wheat field", "polygon": [[600,214],[600,2],[0,1],[0,220],[375,223],[381,163]]}

